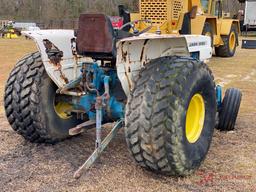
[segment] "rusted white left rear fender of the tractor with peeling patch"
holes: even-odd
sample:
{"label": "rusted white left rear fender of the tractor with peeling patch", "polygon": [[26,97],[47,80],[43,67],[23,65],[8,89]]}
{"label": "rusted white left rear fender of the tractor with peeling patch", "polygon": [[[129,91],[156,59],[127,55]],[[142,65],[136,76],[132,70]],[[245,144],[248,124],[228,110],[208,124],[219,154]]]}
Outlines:
{"label": "rusted white left rear fender of the tractor with peeling patch", "polygon": [[76,55],[73,30],[22,33],[35,41],[47,74],[59,88],[77,79],[81,74],[81,60]]}

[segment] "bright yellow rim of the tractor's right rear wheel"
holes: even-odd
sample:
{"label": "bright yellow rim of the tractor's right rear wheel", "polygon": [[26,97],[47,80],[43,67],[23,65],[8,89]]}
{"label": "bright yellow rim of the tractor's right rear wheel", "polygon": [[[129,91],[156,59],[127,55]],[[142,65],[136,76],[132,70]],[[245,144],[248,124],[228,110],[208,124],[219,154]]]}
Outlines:
{"label": "bright yellow rim of the tractor's right rear wheel", "polygon": [[204,120],[204,99],[201,94],[195,94],[190,100],[186,115],[186,137],[190,143],[196,143],[200,138]]}

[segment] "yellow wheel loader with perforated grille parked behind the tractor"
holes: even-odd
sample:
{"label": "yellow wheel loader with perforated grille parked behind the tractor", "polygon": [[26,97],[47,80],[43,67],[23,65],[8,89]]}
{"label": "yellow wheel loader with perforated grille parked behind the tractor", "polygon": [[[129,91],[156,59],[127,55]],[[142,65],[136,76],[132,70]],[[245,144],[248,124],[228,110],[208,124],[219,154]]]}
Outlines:
{"label": "yellow wheel loader with perforated grille parked behind the tractor", "polygon": [[[150,20],[150,32],[210,36],[217,56],[232,57],[238,46],[239,21],[222,13],[220,0],[140,0],[140,12],[131,13],[130,19]],[[148,26],[139,22],[136,27]]]}

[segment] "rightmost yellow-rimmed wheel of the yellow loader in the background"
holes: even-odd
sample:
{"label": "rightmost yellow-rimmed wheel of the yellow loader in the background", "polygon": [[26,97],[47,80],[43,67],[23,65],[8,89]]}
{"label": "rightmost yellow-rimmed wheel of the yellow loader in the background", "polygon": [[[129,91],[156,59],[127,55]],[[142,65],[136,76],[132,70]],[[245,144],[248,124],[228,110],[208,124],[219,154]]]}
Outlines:
{"label": "rightmost yellow-rimmed wheel of the yellow loader in the background", "polygon": [[215,48],[215,54],[218,57],[233,57],[238,45],[238,31],[235,25],[232,25],[229,35],[221,36],[224,45]]}

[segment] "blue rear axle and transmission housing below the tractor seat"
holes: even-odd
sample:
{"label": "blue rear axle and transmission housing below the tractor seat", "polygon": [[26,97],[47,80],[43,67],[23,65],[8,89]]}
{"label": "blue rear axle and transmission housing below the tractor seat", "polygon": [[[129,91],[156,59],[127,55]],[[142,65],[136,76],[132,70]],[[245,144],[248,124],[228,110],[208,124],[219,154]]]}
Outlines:
{"label": "blue rear axle and transmission housing below the tractor seat", "polygon": [[105,71],[97,63],[87,64],[85,70],[87,80],[90,80],[90,86],[97,92],[88,92],[84,96],[74,97],[73,105],[75,109],[85,111],[90,120],[96,120],[96,99],[101,96],[103,105],[105,105],[101,109],[102,121],[116,121],[124,118],[125,105],[111,95],[111,88],[115,87],[117,81],[119,81],[116,71],[112,69]]}

